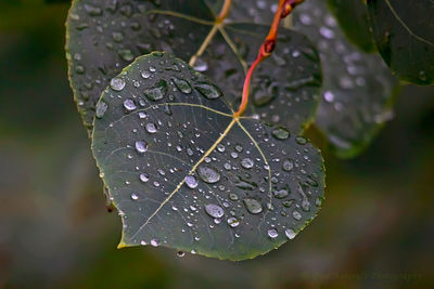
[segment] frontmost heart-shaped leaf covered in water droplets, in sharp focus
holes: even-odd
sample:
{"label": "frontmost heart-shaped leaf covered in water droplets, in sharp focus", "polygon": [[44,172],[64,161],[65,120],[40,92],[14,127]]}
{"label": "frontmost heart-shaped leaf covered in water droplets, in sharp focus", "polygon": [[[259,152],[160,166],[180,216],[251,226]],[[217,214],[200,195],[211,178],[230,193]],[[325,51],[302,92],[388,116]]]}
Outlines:
{"label": "frontmost heart-shaped leaf covered in water droplets, in sharp focus", "polygon": [[254,258],[294,238],[322,202],[317,148],[234,118],[217,86],[167,53],[125,68],[97,111],[92,152],[122,215],[119,247]]}

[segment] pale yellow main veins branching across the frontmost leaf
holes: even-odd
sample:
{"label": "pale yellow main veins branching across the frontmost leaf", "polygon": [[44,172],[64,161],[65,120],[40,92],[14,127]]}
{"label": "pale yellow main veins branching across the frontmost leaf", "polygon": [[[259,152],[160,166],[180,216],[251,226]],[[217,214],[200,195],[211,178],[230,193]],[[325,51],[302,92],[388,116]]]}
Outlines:
{"label": "pale yellow main veins branching across the frontmost leaf", "polygon": [[[214,114],[218,114],[228,118],[231,118],[231,121],[229,122],[229,124],[226,127],[226,129],[224,130],[224,132],[220,134],[220,136],[213,143],[213,145],[205,152],[205,154],[197,160],[196,163],[193,165],[193,167],[190,169],[190,171],[187,173],[186,178],[188,175],[192,175],[197,167],[206,159],[206,157],[208,157],[214,149],[217,147],[218,144],[220,144],[224,139],[228,135],[228,133],[231,131],[231,129],[233,128],[234,124],[239,126],[241,128],[242,131],[244,131],[244,133],[246,134],[246,136],[252,141],[252,143],[254,144],[254,146],[256,147],[256,149],[259,152],[260,156],[263,157],[263,160],[265,162],[265,165],[267,166],[267,171],[268,171],[268,185],[269,185],[269,192],[268,192],[268,196],[269,196],[269,200],[270,203],[272,203],[272,194],[271,194],[271,169],[270,166],[268,163],[268,160],[263,152],[263,149],[260,148],[259,144],[256,142],[256,140],[252,136],[252,134],[248,133],[248,131],[244,128],[244,126],[240,122],[240,119],[252,119],[250,117],[234,117],[233,115],[229,115],[209,107],[206,107],[204,105],[199,105],[199,104],[189,104],[189,103],[162,103],[158,104],[158,106],[165,106],[165,105],[170,105],[170,106],[192,106],[192,107],[196,107],[200,109],[207,109]],[[148,109],[151,109],[152,107],[146,107],[143,109],[138,109],[136,110],[136,114],[140,113],[140,111],[145,111]],[[117,121],[120,121],[120,119],[118,119]],[[186,183],[186,178],[182,179],[181,182],[178,183],[178,185],[176,186],[176,188],[167,196],[167,198],[165,198],[165,200],[158,206],[158,208],[144,221],[144,223],[139,227],[139,229],[131,236],[131,238],[135,238],[148,224],[149,222],[161,211],[161,209],[175,196],[175,194],[178,193],[178,191],[182,187],[182,185]],[[264,215],[264,220],[265,220]]]}

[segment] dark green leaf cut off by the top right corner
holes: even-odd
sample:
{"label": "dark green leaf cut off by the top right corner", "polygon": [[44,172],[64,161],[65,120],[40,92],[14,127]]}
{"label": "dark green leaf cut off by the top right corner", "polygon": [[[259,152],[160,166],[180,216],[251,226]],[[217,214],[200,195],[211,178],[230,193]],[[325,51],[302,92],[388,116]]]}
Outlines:
{"label": "dark green leaf cut off by the top right corner", "polygon": [[400,80],[434,83],[432,0],[369,0],[373,37],[381,56]]}

